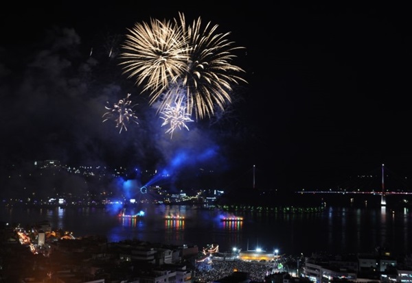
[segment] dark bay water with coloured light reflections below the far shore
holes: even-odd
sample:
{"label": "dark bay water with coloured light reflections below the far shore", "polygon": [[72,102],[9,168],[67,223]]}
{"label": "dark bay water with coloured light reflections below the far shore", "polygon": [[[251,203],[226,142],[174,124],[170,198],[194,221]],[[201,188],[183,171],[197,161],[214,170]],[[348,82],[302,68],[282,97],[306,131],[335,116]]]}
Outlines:
{"label": "dark bay water with coloured light reflections below the far shore", "polygon": [[[225,223],[221,210],[196,206],[142,206],[128,208],[128,214],[144,210],[141,219],[117,216],[106,208],[7,208],[0,206],[0,221],[31,225],[47,220],[52,227],[74,236],[104,235],[110,242],[138,239],[151,243],[197,245],[199,249],[217,243],[220,251],[261,247],[279,249],[279,254],[326,251],[331,254],[372,252],[376,247],[394,256],[412,254],[412,211],[407,208],[343,208],[330,206],[323,212],[306,214],[259,214],[243,212],[240,223]],[[167,214],[179,214],[184,221],[169,221]]]}

